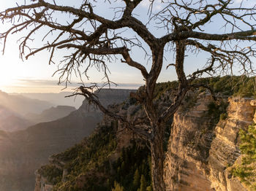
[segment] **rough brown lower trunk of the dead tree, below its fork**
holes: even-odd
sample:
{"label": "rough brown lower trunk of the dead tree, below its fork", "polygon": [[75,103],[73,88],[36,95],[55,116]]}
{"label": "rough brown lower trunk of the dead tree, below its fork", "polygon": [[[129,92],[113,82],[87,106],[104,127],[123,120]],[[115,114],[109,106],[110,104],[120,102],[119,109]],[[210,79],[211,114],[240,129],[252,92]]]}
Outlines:
{"label": "rough brown lower trunk of the dead tree, below its fork", "polygon": [[151,141],[151,177],[154,191],[165,191],[163,149],[164,125],[154,125],[154,137]]}

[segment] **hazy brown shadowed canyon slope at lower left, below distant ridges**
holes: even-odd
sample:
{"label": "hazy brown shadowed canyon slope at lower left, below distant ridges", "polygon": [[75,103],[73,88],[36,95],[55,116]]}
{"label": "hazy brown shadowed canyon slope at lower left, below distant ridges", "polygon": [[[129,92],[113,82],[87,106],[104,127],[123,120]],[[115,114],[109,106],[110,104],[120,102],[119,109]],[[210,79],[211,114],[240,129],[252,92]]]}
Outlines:
{"label": "hazy brown shadowed canyon slope at lower left, below distant ridges", "polygon": [[[99,98],[105,104],[121,102],[130,91],[104,90]],[[102,114],[84,101],[78,110],[59,120],[13,133],[0,132],[0,190],[34,190],[34,171],[46,163],[50,155],[89,136],[101,119]]]}

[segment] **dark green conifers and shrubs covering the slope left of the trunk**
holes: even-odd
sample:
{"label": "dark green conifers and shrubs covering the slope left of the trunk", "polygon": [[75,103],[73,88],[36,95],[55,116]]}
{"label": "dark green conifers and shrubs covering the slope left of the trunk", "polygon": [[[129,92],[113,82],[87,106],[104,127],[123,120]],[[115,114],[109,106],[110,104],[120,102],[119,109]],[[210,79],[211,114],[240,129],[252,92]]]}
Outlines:
{"label": "dark green conifers and shrubs covering the slope left of the trunk", "polygon": [[[130,147],[123,148],[121,155],[113,159],[116,144],[115,125],[99,127],[81,144],[54,156],[54,160],[65,163],[62,168],[45,165],[39,169],[39,174],[47,177],[54,185],[53,190],[144,191],[144,187],[150,190],[149,150],[132,141]],[[64,169],[68,174],[62,179]]]}

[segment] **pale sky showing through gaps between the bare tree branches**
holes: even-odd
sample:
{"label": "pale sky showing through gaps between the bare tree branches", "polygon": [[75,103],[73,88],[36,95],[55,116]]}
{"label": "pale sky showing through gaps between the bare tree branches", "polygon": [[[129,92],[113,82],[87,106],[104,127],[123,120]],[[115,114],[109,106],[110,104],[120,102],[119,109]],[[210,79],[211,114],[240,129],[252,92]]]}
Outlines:
{"label": "pale sky showing through gaps between the bare tree branches", "polygon": [[[17,0],[18,4],[23,4],[24,0]],[[29,2],[29,0],[26,0]],[[238,4],[241,0],[236,0],[236,4]],[[80,4],[81,0],[69,1],[69,0],[56,0],[57,4]],[[75,3],[74,3],[75,2]],[[143,0],[140,6],[135,9],[135,16],[142,18],[142,21],[145,23],[146,18],[148,17],[148,0]],[[248,6],[251,6],[248,1]],[[14,7],[16,0],[1,0],[0,11],[6,9],[7,7]],[[123,7],[124,4],[121,1],[116,1],[116,4],[120,7]],[[103,6],[102,6],[103,5]],[[156,1],[154,4],[154,11],[158,11],[162,8],[162,4],[160,0]],[[105,17],[113,17],[113,9],[106,9],[103,1],[98,1],[97,6],[95,7],[95,12],[98,12],[102,16]],[[65,19],[65,17],[63,17]],[[0,23],[0,33],[8,28],[7,23]],[[218,31],[221,28],[216,24],[213,26],[209,26],[209,31]],[[150,31],[154,33],[156,36],[161,36],[164,34],[164,31],[161,29],[157,29],[155,27],[150,26]],[[53,76],[54,71],[58,69],[58,64],[48,65],[49,52],[40,52],[37,55],[34,55],[29,58],[29,60],[22,61],[20,59],[19,50],[18,50],[18,38],[22,36],[22,34],[15,34],[10,36],[7,39],[7,47],[4,52],[4,55],[0,54],[0,90],[4,90],[7,93],[28,93],[28,92],[54,92],[58,93],[65,86],[57,85],[59,81],[59,76]],[[134,35],[132,33],[127,32],[127,35]],[[33,42],[36,46],[40,44],[39,42],[39,34],[38,39],[35,39]],[[0,48],[2,48],[2,41],[0,41]],[[59,52],[56,57],[61,58],[63,55],[67,55],[67,50]],[[147,69],[150,68],[150,64],[147,64],[143,55],[143,52],[134,50],[132,52],[132,56],[135,61],[143,63]],[[185,68],[186,72],[189,73],[192,70],[196,70],[197,67],[201,67],[206,63],[206,58],[208,55],[200,54],[200,55],[189,55],[186,57]],[[167,55],[165,61],[165,65],[162,69],[162,73],[160,74],[158,82],[166,82],[172,81],[176,79],[176,74],[173,69],[165,69],[168,63],[173,63],[173,55]],[[132,67],[127,66],[125,63],[121,63],[121,61],[113,61],[113,63],[109,63],[110,69],[110,80],[116,82],[118,84],[118,88],[138,88],[143,84],[143,77],[137,69],[133,69]],[[97,69],[91,69],[89,72],[90,79],[87,80],[86,77],[83,78],[83,82],[97,82],[102,83],[105,79],[102,79],[104,75],[102,72],[97,71]],[[75,87],[80,86],[80,79],[73,75],[72,83],[68,85],[67,90],[73,90]],[[113,86],[114,87],[114,86]]]}

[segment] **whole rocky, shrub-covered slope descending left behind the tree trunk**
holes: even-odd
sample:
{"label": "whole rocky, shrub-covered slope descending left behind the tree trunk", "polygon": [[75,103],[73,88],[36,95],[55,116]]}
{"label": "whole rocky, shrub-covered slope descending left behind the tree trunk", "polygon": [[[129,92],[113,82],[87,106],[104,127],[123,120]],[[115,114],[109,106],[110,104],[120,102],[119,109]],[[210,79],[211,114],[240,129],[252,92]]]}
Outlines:
{"label": "whole rocky, shrub-covered slope descending left behind the tree trunk", "polygon": [[121,124],[105,117],[89,138],[53,155],[47,165],[36,171],[34,191],[106,191],[115,182],[125,190],[137,191],[141,176],[150,189],[150,167],[146,163],[150,161],[150,152],[140,140],[135,140]]}

